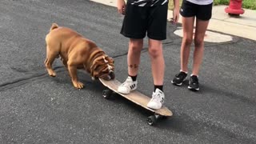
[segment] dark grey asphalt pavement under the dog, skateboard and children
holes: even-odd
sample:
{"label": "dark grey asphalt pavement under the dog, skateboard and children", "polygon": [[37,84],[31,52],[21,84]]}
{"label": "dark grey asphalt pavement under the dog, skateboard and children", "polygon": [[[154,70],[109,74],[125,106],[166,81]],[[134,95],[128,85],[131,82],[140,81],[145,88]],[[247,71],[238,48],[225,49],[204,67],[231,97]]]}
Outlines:
{"label": "dark grey asphalt pavement under the dog, skateboard and children", "polygon": [[[114,58],[116,78],[127,76],[128,39],[116,8],[87,0],[0,2],[0,143],[256,143],[256,42],[206,42],[200,91],[173,86],[179,71],[180,27],[168,23],[164,41],[165,105],[174,116],[146,124],[150,112],[116,95],[102,98],[101,82],[80,70],[76,90],[59,59],[56,78],[46,74],[45,37],[53,22],[78,31]],[[147,44],[138,90],[151,95]],[[192,53],[191,53],[192,55]],[[192,57],[190,57],[190,70]]]}

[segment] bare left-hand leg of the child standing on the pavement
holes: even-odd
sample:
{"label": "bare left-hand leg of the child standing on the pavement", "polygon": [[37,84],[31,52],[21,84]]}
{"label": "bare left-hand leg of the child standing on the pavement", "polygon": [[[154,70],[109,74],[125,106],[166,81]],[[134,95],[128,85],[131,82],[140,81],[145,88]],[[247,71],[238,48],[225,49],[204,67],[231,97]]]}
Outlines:
{"label": "bare left-hand leg of the child standing on the pavement", "polygon": [[193,42],[194,17],[182,17],[182,27],[181,70],[187,72],[187,65],[190,58],[190,46]]}

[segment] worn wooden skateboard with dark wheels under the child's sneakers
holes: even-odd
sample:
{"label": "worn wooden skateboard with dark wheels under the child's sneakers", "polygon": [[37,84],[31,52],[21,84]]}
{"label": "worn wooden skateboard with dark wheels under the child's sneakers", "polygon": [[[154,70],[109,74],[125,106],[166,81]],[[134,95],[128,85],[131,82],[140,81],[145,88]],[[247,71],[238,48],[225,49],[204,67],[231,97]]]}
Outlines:
{"label": "worn wooden skateboard with dark wheels under the child's sneakers", "polygon": [[149,124],[150,126],[154,125],[158,121],[158,119],[167,118],[173,115],[173,113],[166,106],[162,106],[162,108],[159,110],[154,110],[147,107],[146,105],[148,102],[150,102],[150,98],[138,92],[138,90],[133,90],[130,92],[130,94],[119,93],[118,86],[120,86],[122,83],[116,79],[106,81],[102,78],[99,78],[99,80],[104,86],[108,88],[107,90],[102,91],[103,98],[109,99],[113,93],[116,93],[130,100],[131,102],[134,102],[138,106],[142,106],[146,110],[150,110],[151,112],[153,112],[154,114],[146,119],[147,124]]}

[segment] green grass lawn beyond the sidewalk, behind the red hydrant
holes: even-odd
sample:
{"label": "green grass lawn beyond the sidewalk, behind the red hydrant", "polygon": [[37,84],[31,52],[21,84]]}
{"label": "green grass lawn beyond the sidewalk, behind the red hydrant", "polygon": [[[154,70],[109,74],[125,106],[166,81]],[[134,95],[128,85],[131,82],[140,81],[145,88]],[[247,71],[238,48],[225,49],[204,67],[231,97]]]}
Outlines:
{"label": "green grass lawn beyond the sidewalk, behind the red hydrant", "polygon": [[[182,5],[182,0],[179,0],[180,5]],[[214,6],[216,5],[229,5],[230,0],[214,0]],[[174,7],[174,1],[170,0],[169,9],[172,10]],[[242,8],[256,10],[256,0],[242,0]]]}

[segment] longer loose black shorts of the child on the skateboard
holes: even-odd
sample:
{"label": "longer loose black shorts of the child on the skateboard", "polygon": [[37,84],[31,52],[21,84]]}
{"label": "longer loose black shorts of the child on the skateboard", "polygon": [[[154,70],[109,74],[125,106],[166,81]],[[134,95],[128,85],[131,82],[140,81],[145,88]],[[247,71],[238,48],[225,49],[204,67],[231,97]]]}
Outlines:
{"label": "longer loose black shorts of the child on the skateboard", "polygon": [[126,5],[126,14],[121,34],[127,38],[166,39],[168,5],[133,6]]}

